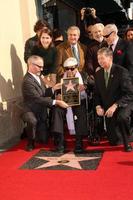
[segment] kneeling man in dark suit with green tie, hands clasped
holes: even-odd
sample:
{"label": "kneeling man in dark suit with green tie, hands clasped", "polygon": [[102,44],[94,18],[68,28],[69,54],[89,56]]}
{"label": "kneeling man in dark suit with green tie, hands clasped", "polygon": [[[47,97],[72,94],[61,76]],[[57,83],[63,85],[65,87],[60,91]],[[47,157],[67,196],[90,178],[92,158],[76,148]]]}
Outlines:
{"label": "kneeling man in dark suit with green tie, hands clasped", "polygon": [[125,151],[132,151],[128,144],[129,118],[133,101],[133,85],[128,70],[113,64],[113,52],[107,47],[98,50],[102,67],[95,77],[95,104],[98,116],[103,116],[111,145],[116,145],[119,129]]}

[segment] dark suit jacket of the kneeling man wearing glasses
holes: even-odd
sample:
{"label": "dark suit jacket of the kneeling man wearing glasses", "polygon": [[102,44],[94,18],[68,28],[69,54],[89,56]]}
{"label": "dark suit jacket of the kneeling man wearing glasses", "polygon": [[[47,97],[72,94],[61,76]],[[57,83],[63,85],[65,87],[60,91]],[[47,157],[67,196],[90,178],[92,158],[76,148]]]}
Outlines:
{"label": "dark suit jacket of the kneeling man wearing glasses", "polygon": [[52,89],[46,89],[43,82],[41,85],[30,74],[26,73],[22,82],[22,95],[23,95],[23,109],[24,112],[32,111],[33,113],[41,113],[42,110],[47,110],[47,107],[51,107]]}

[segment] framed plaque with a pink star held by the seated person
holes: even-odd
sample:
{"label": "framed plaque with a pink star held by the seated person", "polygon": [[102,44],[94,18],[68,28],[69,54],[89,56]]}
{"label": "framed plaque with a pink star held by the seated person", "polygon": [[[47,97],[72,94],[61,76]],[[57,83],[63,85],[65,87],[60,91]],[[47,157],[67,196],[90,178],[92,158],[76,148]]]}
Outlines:
{"label": "framed plaque with a pink star held by the seated person", "polygon": [[79,78],[63,78],[61,97],[69,106],[80,105]]}

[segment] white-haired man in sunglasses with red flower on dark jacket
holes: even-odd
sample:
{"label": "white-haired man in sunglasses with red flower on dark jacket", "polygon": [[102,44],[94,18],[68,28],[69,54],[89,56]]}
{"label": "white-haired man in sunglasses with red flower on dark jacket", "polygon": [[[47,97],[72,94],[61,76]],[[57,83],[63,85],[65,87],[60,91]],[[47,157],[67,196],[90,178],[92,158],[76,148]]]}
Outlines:
{"label": "white-haired man in sunglasses with red flower on dark jacket", "polygon": [[133,81],[133,45],[118,36],[115,24],[104,27],[103,37],[113,51],[113,62],[128,69]]}

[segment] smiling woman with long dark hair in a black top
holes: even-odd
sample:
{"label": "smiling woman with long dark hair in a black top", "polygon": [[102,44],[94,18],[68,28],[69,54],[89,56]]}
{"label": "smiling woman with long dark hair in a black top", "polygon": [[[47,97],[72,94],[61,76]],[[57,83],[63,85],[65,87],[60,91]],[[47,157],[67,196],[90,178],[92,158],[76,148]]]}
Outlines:
{"label": "smiling woman with long dark hair in a black top", "polygon": [[44,28],[39,34],[38,44],[34,46],[32,55],[41,56],[44,60],[42,79],[48,87],[53,87],[56,83],[56,58],[57,50],[53,44],[52,31]]}

